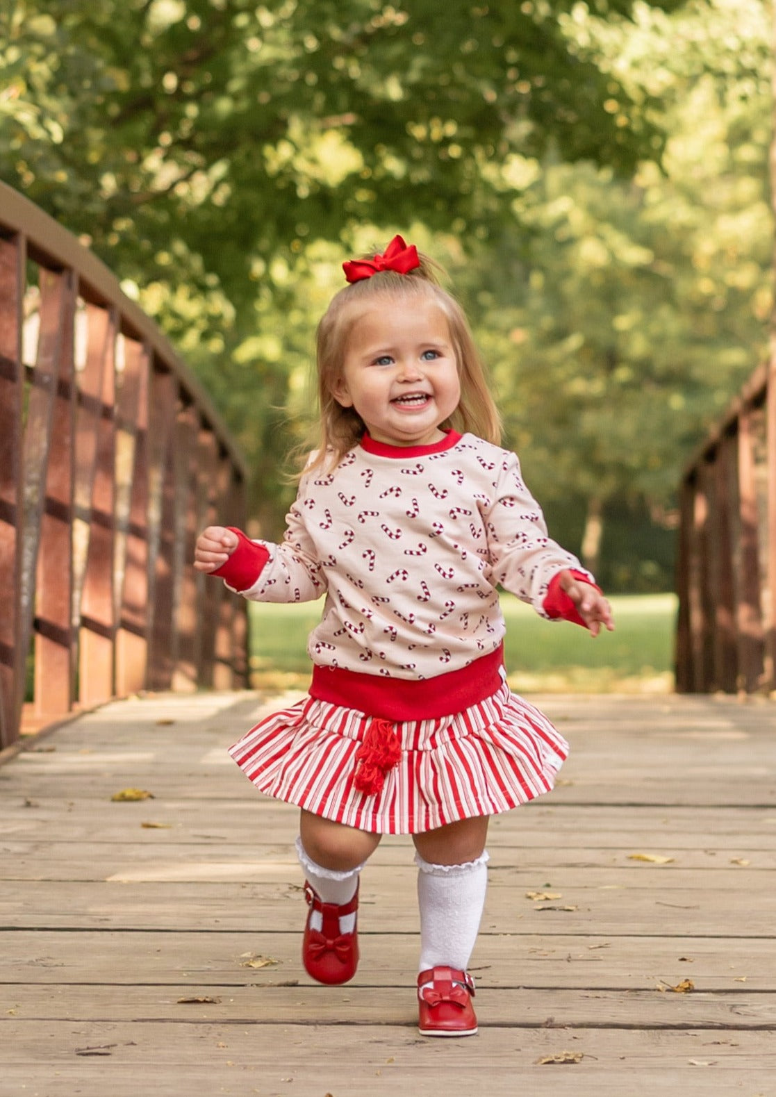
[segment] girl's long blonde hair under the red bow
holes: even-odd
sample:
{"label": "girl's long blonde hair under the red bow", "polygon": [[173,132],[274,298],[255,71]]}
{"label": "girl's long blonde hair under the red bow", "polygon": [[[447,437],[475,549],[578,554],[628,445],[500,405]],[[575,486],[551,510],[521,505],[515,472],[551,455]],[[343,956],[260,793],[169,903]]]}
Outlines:
{"label": "girl's long blonde hair under the red bow", "polygon": [[[329,470],[360,440],[365,425],[352,407],[342,407],[334,389],[342,376],[345,352],[353,325],[380,297],[394,302],[432,301],[442,310],[450,326],[450,339],[456,353],[461,383],[458,407],[440,427],[460,433],[471,432],[498,444],[502,426],[498,410],[487,385],[485,369],[474,344],[469,321],[459,303],[436,276],[437,265],[420,255],[420,267],[408,274],[380,271],[372,278],[344,286],[320,318],[316,337],[316,365],[319,422],[316,450],[307,461],[306,471],[327,466]],[[304,448],[308,452],[308,448]]]}

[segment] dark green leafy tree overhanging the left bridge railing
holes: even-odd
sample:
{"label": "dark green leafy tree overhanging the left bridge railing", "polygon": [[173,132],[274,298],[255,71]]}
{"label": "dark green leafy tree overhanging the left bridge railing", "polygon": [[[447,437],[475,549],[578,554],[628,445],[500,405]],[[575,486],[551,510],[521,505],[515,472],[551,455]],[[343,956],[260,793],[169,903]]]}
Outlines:
{"label": "dark green leafy tree overhanging the left bridge railing", "polygon": [[[9,0],[0,174],[159,319],[271,497],[272,409],[308,348],[295,287],[317,241],[415,222],[494,240],[516,155],[627,174],[660,151],[649,97],[600,69],[577,7]],[[598,0],[611,16],[630,7]]]}

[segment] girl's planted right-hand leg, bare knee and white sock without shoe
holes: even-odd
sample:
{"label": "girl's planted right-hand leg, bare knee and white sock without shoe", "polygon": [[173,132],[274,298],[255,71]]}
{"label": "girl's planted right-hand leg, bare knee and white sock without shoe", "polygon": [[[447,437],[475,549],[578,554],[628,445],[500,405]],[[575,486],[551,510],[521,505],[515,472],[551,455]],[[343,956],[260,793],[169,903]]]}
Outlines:
{"label": "girl's planted right-hand leg, bare knee and white sock without shoe", "polygon": [[487,886],[487,816],[413,836],[418,866],[420,971],[465,971],[480,930]]}

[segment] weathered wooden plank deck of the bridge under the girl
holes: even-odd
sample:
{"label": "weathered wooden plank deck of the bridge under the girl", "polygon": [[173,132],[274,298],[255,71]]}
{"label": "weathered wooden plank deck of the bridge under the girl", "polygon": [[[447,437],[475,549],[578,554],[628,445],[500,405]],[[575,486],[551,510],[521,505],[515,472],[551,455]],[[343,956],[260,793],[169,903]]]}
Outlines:
{"label": "weathered wooden plank deck of the bridge under the girl", "polygon": [[[0,769],[0,1093],[774,1097],[776,705],[538,703],[572,758],[493,821],[481,1031],[457,1041],[415,1028],[409,839],[363,874],[357,979],[302,970],[296,813],[225,754],[256,694],[31,740]],[[154,799],[111,801],[127,787]]]}

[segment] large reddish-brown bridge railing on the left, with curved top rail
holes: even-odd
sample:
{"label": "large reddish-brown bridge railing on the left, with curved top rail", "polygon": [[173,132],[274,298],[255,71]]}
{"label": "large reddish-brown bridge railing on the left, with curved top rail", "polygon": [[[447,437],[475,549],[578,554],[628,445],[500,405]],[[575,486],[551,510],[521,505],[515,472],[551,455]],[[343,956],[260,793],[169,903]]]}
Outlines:
{"label": "large reddish-brown bridge railing on the left, with curved top rail", "polygon": [[23,720],[245,685],[245,607],[192,566],[199,528],[241,522],[245,480],[159,329],[0,184],[0,748]]}

